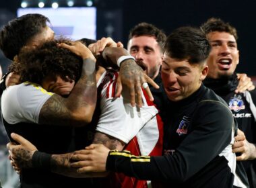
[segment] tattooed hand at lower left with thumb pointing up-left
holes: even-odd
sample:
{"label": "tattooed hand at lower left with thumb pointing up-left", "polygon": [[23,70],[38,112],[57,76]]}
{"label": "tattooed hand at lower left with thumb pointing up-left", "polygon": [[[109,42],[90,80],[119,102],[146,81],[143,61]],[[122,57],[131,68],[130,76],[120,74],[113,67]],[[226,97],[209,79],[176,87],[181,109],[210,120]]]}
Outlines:
{"label": "tattooed hand at lower left with thumb pointing up-left", "polygon": [[7,144],[11,164],[13,163],[12,165],[15,165],[16,169],[31,168],[32,156],[37,150],[36,146],[19,134],[11,133],[11,138],[19,143],[19,145],[15,144],[14,142],[9,142]]}

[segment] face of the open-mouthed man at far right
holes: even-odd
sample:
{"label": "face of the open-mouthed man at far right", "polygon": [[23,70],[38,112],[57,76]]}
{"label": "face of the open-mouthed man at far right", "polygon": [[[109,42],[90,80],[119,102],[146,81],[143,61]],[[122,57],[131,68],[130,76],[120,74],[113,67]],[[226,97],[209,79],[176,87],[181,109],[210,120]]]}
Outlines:
{"label": "face of the open-mouthed man at far right", "polygon": [[226,32],[211,32],[207,38],[212,51],[207,59],[209,73],[207,77],[219,79],[234,73],[239,61],[239,51],[234,36]]}

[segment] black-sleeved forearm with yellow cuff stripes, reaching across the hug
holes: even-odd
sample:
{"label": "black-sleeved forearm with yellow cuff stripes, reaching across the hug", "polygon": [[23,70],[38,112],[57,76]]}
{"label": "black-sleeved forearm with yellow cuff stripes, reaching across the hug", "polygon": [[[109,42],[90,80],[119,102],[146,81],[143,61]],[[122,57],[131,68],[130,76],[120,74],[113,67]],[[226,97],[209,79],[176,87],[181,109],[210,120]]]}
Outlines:
{"label": "black-sleeved forearm with yellow cuff stripes, reaching across the hug", "polygon": [[185,181],[185,172],[178,173],[173,156],[133,156],[128,151],[110,151],[106,171],[124,173],[143,180]]}

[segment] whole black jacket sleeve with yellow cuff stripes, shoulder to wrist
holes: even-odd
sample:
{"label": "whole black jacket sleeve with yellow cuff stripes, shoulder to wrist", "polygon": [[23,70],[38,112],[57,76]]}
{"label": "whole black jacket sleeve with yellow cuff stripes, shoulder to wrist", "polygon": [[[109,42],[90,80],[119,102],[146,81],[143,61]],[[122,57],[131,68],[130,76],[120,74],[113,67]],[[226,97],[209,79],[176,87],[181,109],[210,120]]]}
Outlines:
{"label": "whole black jacket sleeve with yellow cuff stripes, shoulder to wrist", "polygon": [[196,128],[173,155],[133,156],[111,151],[106,169],[137,179],[186,181],[230,144],[234,123],[230,109],[216,101],[202,103],[193,121]]}

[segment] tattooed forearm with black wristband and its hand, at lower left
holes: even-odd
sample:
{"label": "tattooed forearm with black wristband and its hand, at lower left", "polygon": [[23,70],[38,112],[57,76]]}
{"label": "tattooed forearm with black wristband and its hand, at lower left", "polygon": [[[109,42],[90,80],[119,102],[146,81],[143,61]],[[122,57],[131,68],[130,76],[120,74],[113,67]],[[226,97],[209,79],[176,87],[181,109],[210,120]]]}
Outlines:
{"label": "tattooed forearm with black wristband and its hand, at lower left", "polygon": [[73,152],[67,154],[46,154],[39,152],[31,142],[18,134],[11,134],[14,142],[9,142],[9,158],[15,171],[25,168],[51,169],[54,173],[66,175],[68,177],[105,177],[108,173],[77,173],[77,169],[70,166],[70,159]]}

